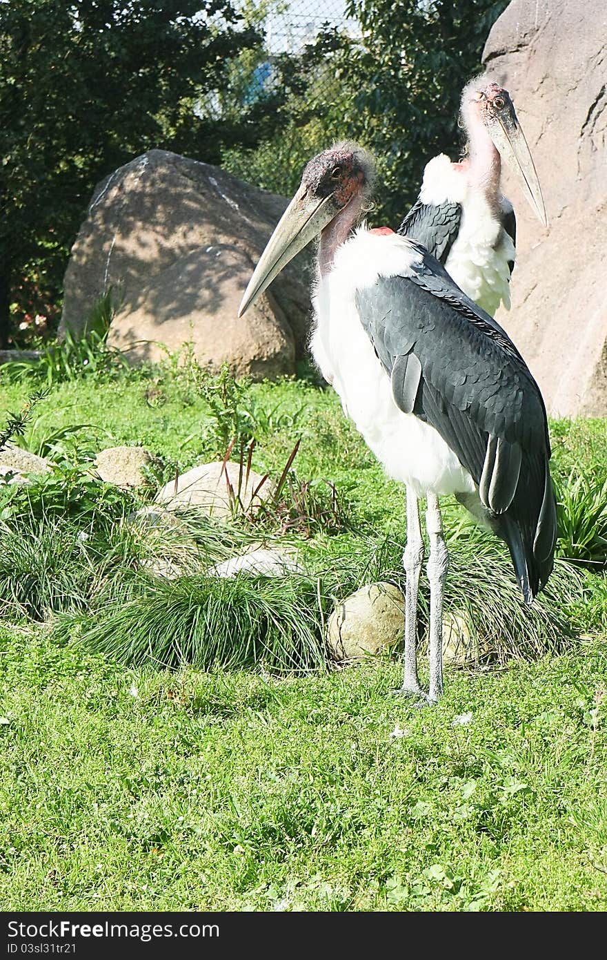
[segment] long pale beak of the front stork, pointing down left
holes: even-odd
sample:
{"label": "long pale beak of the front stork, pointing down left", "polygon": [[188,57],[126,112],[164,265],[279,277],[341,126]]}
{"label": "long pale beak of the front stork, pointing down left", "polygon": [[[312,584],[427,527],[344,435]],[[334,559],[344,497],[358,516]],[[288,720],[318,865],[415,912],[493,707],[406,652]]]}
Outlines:
{"label": "long pale beak of the front stork, pointing down left", "polygon": [[248,281],[238,316],[269,286],[275,276],[292,260],[295,253],[314,240],[337,213],[333,194],[310,196],[302,183],[268,240],[268,246]]}

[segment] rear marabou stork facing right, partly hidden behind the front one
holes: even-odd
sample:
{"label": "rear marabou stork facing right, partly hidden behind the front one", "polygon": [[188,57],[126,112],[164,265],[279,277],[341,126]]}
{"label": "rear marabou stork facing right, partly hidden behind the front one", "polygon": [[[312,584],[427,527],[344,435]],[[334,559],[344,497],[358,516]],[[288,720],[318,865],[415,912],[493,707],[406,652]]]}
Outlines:
{"label": "rear marabou stork facing right, partly hidden behind the front one", "polygon": [[518,175],[538,219],[548,226],[533,159],[507,90],[486,76],[467,84],[460,122],[467,153],[459,163],[434,156],[416,203],[398,228],[444,265],[464,293],[493,316],[510,308],[516,220],[502,196],[502,158]]}

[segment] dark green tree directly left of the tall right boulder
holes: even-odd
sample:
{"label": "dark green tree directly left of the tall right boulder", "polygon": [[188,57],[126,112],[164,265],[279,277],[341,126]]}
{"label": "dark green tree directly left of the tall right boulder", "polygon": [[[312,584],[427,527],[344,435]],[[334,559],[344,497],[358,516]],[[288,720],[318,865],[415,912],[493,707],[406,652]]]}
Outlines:
{"label": "dark green tree directly left of the tall right boulder", "polygon": [[481,68],[485,40],[507,3],[349,0],[362,35],[333,38],[342,122],[378,158],[390,223],[414,202],[432,156],[456,158],[461,90]]}

